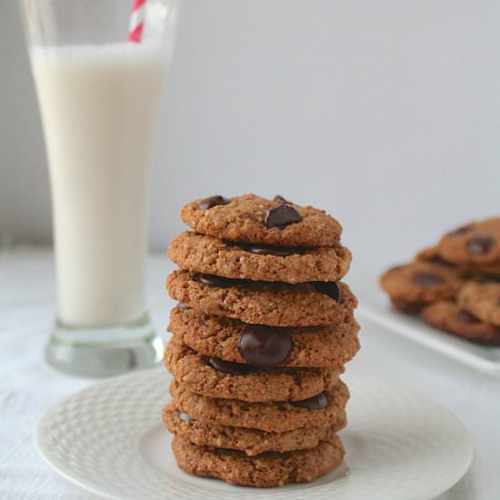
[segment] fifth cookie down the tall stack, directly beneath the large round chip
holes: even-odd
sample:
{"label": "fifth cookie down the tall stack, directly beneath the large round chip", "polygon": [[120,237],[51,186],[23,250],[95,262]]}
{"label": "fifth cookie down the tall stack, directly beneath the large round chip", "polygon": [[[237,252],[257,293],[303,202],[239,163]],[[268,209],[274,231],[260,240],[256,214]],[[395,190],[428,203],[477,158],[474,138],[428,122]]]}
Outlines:
{"label": "fifth cookie down the tall stack, directly beneath the large round chip", "polygon": [[242,401],[299,401],[328,389],[343,371],[328,368],[273,368],[225,363],[200,355],[175,337],[165,349],[165,365],[190,391]]}

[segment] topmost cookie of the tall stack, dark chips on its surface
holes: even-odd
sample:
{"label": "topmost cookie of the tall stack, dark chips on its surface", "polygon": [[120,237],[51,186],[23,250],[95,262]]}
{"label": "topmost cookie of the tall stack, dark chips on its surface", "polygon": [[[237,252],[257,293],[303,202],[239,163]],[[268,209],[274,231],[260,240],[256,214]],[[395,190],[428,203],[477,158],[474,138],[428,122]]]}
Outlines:
{"label": "topmost cookie of the tall stack, dark chips on its surface", "polygon": [[181,219],[203,235],[260,245],[332,246],[342,233],[323,210],[255,195],[195,200],[183,207]]}

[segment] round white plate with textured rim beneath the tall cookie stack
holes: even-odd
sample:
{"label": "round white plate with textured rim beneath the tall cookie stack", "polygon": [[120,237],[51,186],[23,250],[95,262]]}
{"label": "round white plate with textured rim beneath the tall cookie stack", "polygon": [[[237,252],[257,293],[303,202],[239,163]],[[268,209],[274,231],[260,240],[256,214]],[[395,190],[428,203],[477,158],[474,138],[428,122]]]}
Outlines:
{"label": "round white plate with textured rim beneath the tall cookie stack", "polygon": [[95,495],[141,500],[424,500],[454,485],[472,460],[465,427],[445,408],[395,385],[346,375],[345,465],[307,485],[271,489],[187,475],[175,465],[161,423],[169,378],[164,369],[147,370],[65,398],[37,425],[38,452]]}

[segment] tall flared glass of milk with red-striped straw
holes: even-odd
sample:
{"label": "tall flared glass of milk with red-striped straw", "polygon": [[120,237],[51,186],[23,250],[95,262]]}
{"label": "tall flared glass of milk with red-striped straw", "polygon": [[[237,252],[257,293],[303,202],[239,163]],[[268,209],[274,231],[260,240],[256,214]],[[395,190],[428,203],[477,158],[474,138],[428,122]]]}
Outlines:
{"label": "tall flared glass of milk with red-striped straw", "polygon": [[55,230],[46,359],[95,376],[156,365],[163,342],[145,305],[148,181],[177,5],[20,1]]}

